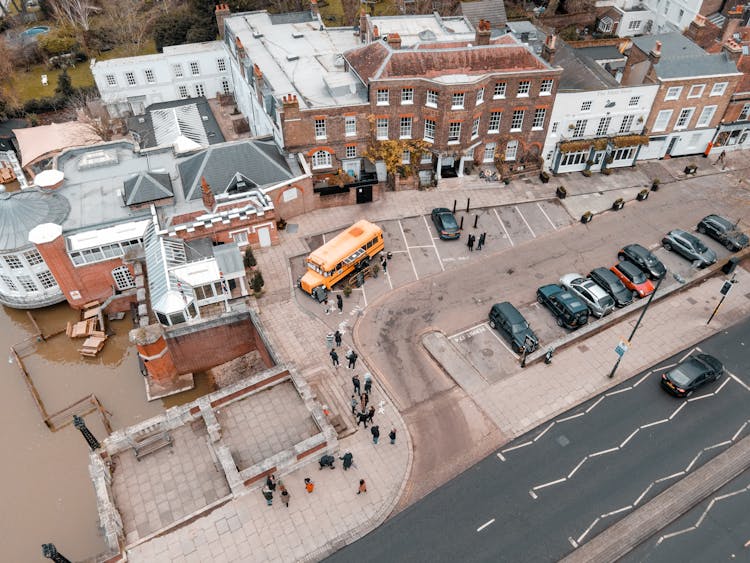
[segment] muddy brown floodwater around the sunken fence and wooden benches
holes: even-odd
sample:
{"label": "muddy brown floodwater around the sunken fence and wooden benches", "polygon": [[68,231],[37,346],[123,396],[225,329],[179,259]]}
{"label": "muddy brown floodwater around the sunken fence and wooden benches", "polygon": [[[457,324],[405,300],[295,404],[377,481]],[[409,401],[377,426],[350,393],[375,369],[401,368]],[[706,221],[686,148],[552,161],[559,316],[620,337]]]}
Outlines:
{"label": "muddy brown floodwater around the sunken fence and wooden benches", "polygon": [[[67,305],[33,311],[44,334],[56,332],[78,313]],[[35,329],[24,311],[0,308],[4,354],[0,353],[0,535],[3,561],[46,561],[41,544],[54,543],[71,560],[105,550],[99,532],[96,499],[88,474],[88,446],[72,425],[51,432],[42,421],[20,370],[11,363],[9,347],[32,336]],[[146,401],[135,348],[128,343],[129,317],[109,323],[110,336],[97,358],[82,359],[81,340],[65,333],[48,342],[17,346],[48,413],[96,395],[111,413],[113,429],[135,424],[164,410],[161,401]],[[210,390],[177,396],[168,406]],[[184,396],[183,396],[184,395]],[[86,423],[100,440],[106,431],[98,415]]]}

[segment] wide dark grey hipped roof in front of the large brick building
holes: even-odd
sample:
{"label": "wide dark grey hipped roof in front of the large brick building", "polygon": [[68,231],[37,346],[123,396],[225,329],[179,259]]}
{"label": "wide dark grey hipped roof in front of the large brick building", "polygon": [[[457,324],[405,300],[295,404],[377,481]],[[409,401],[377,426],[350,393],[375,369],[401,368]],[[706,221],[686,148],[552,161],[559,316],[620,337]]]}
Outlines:
{"label": "wide dark grey hipped roof in front of the large brick building", "polygon": [[279,153],[273,139],[245,140],[213,145],[177,165],[182,178],[185,200],[201,197],[201,178],[205,177],[214,194],[243,191],[246,187],[265,187],[293,178],[286,159]]}

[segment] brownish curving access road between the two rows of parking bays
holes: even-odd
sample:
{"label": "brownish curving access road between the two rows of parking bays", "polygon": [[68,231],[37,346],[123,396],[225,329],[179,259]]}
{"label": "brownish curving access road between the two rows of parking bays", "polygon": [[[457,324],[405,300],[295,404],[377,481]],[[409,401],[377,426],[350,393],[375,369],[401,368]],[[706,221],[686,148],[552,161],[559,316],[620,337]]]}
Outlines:
{"label": "brownish curving access road between the two rows of parking bays", "polygon": [[[567,272],[588,272],[616,261],[626,243],[650,247],[675,227],[687,229],[707,213],[736,215],[744,194],[736,180],[690,179],[660,190],[644,205],[597,216],[508,248],[489,246],[467,262],[410,283],[369,303],[355,343],[387,386],[409,427],[414,464],[399,509],[423,497],[507,441],[473,400],[428,357],[421,336],[445,334],[486,318],[492,303],[534,301],[536,287]],[[450,241],[435,241],[450,244]]]}

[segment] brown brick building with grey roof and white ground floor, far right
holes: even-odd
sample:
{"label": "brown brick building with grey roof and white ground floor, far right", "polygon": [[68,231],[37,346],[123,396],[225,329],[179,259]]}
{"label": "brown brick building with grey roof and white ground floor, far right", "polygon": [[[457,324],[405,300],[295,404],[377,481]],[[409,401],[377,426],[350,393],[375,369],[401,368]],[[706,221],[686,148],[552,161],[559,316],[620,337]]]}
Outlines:
{"label": "brown brick building with grey roof and white ground floor, far right", "polygon": [[709,54],[679,33],[636,37],[622,84],[657,84],[641,159],[701,154],[742,79],[724,53]]}

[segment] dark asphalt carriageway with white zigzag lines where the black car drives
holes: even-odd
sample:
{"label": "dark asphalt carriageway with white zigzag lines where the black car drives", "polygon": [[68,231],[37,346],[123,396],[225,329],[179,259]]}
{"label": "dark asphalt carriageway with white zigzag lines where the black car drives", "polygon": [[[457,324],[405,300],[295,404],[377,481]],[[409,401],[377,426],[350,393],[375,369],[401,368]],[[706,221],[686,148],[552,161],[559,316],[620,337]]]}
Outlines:
{"label": "dark asphalt carriageway with white zigzag lines where the black car drives", "polygon": [[[686,350],[506,445],[329,561],[559,560],[750,433],[749,342],[746,320],[701,343],[730,375],[689,400],[659,386]],[[725,548],[706,541],[700,560]],[[694,560],[672,555],[655,560]]]}

